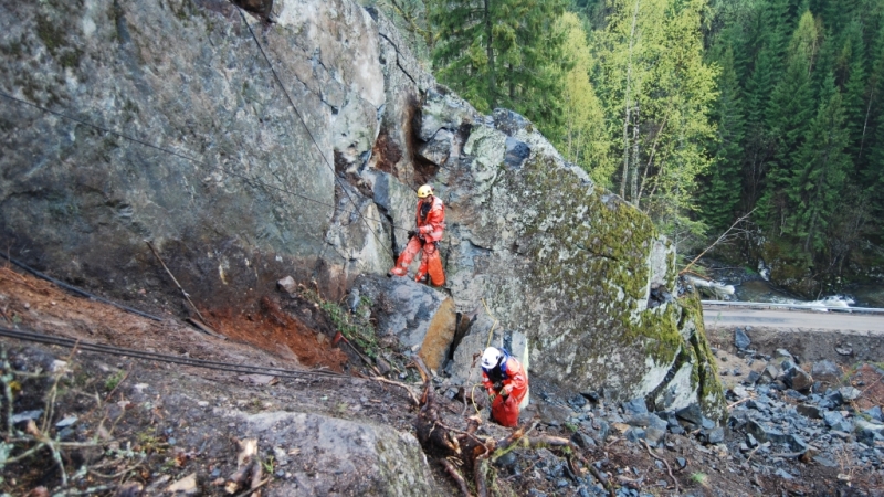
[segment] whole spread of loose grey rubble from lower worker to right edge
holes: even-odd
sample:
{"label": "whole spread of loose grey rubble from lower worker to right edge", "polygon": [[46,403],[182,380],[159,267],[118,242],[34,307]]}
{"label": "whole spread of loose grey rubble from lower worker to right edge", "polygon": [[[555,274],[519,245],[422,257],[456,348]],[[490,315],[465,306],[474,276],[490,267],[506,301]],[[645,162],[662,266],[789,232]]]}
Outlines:
{"label": "whole spread of loose grey rubble from lower worker to right edge", "polygon": [[[782,349],[772,356],[751,350],[743,330],[735,338],[737,357],[750,368],[747,373],[739,368],[722,371],[741,380],[727,390],[730,415],[724,426],[704,417],[696,405],[651,412],[643,399],[612,405],[594,392],[567,394],[543,383],[533,385],[533,405],[525,415],[539,417],[546,430],[572,432],[571,442],[619,487],[615,495],[673,490],[703,495],[706,487],[702,482],[692,486],[706,477],[701,470],[741,479],[741,490],[751,487],[765,493],[774,485],[798,495],[834,488],[851,488],[852,495],[878,495],[882,482],[874,475],[884,469],[881,401],[872,398],[878,404],[862,409],[857,400],[870,403],[864,394],[884,382],[884,370],[863,364],[872,380],[857,379],[829,360],[803,364]],[[884,391],[884,384],[881,388]],[[613,448],[621,444],[620,451]],[[651,454],[654,466],[649,468],[638,458],[631,466],[629,457],[622,457],[624,453]],[[519,458],[520,463],[515,457],[502,458],[498,465],[511,475],[528,466],[534,482],[546,479],[551,487],[548,494],[535,490],[530,495],[612,495],[598,478],[570,475],[565,459],[552,453],[538,451],[519,454]],[[682,488],[675,486],[676,480]],[[864,485],[871,482],[871,489],[857,486],[860,480]]]}

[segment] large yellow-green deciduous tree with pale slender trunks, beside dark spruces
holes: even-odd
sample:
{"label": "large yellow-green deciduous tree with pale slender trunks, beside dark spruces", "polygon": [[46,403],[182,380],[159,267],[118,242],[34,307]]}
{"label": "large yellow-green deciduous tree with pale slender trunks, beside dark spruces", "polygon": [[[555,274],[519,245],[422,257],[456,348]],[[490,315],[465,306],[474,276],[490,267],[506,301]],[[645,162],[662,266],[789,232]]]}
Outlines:
{"label": "large yellow-green deciduous tree with pale slender trunks, beside dark spruces", "polygon": [[717,67],[703,61],[705,0],[614,0],[608,27],[593,36],[592,74],[620,141],[620,194],[664,232],[688,228],[696,179],[709,165],[705,146]]}

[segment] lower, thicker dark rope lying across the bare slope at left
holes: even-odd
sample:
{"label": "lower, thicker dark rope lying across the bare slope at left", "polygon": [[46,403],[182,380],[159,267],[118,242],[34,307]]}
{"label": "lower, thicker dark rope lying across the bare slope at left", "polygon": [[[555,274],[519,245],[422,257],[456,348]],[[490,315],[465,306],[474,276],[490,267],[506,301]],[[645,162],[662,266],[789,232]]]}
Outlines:
{"label": "lower, thicker dark rope lying across the bare slope at left", "polygon": [[83,340],[75,340],[72,338],[55,337],[33,331],[23,331],[3,327],[0,327],[0,336],[8,338],[15,338],[18,340],[32,341],[36,343],[66,347],[69,349],[76,348],[103,355],[131,357],[135,359],[170,362],[175,364],[192,366],[194,368],[213,369],[219,371],[236,372],[244,374],[267,374],[280,378],[324,377],[324,378],[335,378],[335,379],[351,379],[351,377],[336,373],[333,371],[316,371],[316,370],[297,371],[284,368],[273,368],[269,366],[231,364],[230,362],[209,361],[203,359],[193,359],[189,357],[169,356],[165,353],[148,352],[144,350],[126,349],[104,343],[93,343]]}

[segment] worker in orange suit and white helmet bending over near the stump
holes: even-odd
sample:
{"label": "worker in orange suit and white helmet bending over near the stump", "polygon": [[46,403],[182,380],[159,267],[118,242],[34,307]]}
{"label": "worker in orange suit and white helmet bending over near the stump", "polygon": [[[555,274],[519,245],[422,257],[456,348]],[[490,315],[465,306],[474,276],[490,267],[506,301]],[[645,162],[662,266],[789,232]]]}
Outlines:
{"label": "worker in orange suit and white helmet bending over near the stump", "polygon": [[491,396],[491,417],[503,426],[518,425],[519,404],[528,393],[528,373],[506,349],[482,353],[482,384]]}

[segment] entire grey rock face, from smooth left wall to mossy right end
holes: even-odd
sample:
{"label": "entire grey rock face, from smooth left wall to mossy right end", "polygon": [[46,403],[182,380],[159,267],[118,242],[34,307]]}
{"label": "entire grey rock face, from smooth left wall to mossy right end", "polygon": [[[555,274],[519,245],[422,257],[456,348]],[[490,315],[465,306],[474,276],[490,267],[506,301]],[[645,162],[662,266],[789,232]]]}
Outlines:
{"label": "entire grey rock face, from smooth left wall to mossy right end", "polygon": [[[222,0],[7,2],[0,15],[13,256],[177,303],[151,240],[204,309],[254,305],[285,274],[339,297],[391,266],[431,182],[449,295],[431,321],[481,309],[532,374],[725,415],[697,300],[661,298],[677,294],[672,245],[530,121],[436,85],[373,10],[276,1],[272,27]],[[455,336],[439,319],[422,353],[463,371],[493,330]]]}

